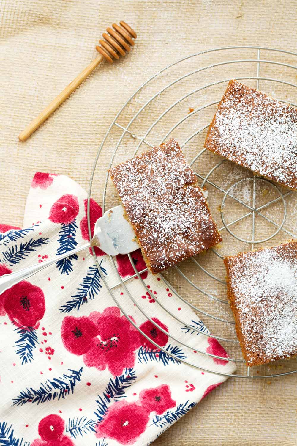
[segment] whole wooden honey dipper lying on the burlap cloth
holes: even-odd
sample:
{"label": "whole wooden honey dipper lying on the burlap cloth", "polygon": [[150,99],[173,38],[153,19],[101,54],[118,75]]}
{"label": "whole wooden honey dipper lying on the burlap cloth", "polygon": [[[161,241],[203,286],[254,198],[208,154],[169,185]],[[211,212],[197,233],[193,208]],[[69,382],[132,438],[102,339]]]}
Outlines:
{"label": "whole wooden honey dipper lying on the burlap cloth", "polygon": [[119,59],[120,56],[125,56],[126,52],[130,51],[130,46],[134,46],[134,39],[137,35],[134,29],[130,28],[125,22],[121,21],[120,25],[112,24],[112,28],[107,28],[108,34],[103,33],[103,39],[99,40],[101,46],[96,46],[96,50],[100,53],[90,65],[88,65],[67,87],[61,91],[53,101],[45,107],[43,111],[33,119],[30,124],[19,134],[19,140],[25,141],[30,135],[55,111],[71,93],[77,89],[79,85],[89,76],[90,73],[99,65],[102,60],[113,63],[113,58]]}

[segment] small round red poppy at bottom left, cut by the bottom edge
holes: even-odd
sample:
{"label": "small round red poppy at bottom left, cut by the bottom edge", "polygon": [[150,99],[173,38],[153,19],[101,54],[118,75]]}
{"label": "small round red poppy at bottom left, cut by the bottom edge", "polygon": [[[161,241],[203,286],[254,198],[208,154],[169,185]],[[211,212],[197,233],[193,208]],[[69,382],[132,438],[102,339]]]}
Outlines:
{"label": "small round red poppy at bottom left, cut by the bottom edge", "polygon": [[38,425],[37,438],[31,446],[74,446],[69,437],[63,435],[65,421],[59,415],[51,414],[42,418]]}

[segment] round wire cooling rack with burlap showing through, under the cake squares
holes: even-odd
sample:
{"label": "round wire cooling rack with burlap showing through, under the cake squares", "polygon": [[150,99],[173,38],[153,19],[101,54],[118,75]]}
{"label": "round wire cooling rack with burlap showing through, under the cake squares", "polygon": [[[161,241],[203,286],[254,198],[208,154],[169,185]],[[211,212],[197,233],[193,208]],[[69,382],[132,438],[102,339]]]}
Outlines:
{"label": "round wire cooling rack with burlap showing through, under the cake squares", "polygon": [[[241,80],[257,89],[260,87],[261,91],[297,107],[288,99],[296,94],[297,85],[293,83],[297,77],[296,65],[297,53],[260,46],[216,48],[179,59],[147,79],[124,103],[110,124],[94,161],[88,192],[89,234],[90,196],[92,187],[93,195],[96,194],[94,180],[98,171],[102,171],[102,165],[98,161],[100,155],[108,153],[110,147],[112,147],[110,163],[106,168],[159,145],[171,136],[179,141],[187,160],[191,159],[189,164],[197,178],[201,180],[200,186],[207,186],[212,215],[217,223],[220,218],[222,220],[222,225],[218,223],[218,227],[223,236],[223,245],[226,240],[226,246],[223,249],[216,247],[204,256],[199,255],[186,260],[160,277],[166,288],[175,294],[183,305],[191,307],[199,318],[203,318],[212,334],[209,335],[209,332],[203,332],[199,327],[192,326],[189,321],[177,317],[170,308],[164,306],[142,280],[141,274],[146,269],[138,272],[130,255],[133,275],[125,279],[118,275],[118,282],[113,285],[109,285],[103,275],[102,281],[122,313],[147,339],[149,338],[146,334],[129,318],[114,293],[119,285],[122,286],[139,312],[159,330],[165,332],[146,314],[142,302],[139,302],[126,286],[127,282],[135,277],[138,277],[144,292],[154,298],[156,305],[166,311],[181,327],[191,329],[199,336],[206,335],[218,339],[231,356],[228,360],[234,361],[237,366],[236,373],[232,375],[220,373],[221,375],[271,378],[297,372],[297,362],[294,359],[277,361],[258,368],[245,366],[234,330],[232,313],[226,300],[222,260],[227,254],[248,251],[257,246],[271,246],[271,242],[267,244],[271,239],[274,239],[273,244],[278,244],[282,240],[297,238],[291,231],[296,224],[293,220],[293,193],[264,178],[254,177],[247,169],[202,149],[208,125],[230,79]],[[173,97],[174,102],[172,102]],[[115,194],[110,192],[112,189],[109,188],[109,184],[110,178],[107,173],[103,190],[103,212],[115,204]],[[291,200],[290,207],[287,204],[289,200]],[[290,212],[288,225],[289,209],[293,211]],[[98,258],[94,256],[94,259],[100,273]],[[114,258],[110,256],[110,260],[116,270]],[[169,338],[193,351],[193,346],[182,342],[178,339],[178,335],[169,334]],[[150,341],[156,348],[165,351],[151,339]],[[218,355],[201,353],[226,360]],[[180,359],[174,354],[172,356],[192,367],[202,369],[194,362]],[[210,369],[203,370],[213,372]]]}

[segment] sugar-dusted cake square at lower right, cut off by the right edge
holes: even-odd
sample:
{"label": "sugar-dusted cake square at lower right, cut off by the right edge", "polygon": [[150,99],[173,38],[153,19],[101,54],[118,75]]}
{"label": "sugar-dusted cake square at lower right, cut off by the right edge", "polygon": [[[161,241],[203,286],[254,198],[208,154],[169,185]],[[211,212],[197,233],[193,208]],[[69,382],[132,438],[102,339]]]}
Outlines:
{"label": "sugar-dusted cake square at lower right, cut off by the right edge", "polygon": [[224,264],[246,364],[297,355],[297,242],[240,252]]}

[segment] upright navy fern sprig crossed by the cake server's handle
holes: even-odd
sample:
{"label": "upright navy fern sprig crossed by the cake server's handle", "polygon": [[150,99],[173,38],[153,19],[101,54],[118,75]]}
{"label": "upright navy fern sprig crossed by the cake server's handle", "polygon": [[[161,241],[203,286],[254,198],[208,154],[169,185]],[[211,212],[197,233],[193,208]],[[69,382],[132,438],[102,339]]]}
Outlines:
{"label": "upright navy fern sprig crossed by the cake server's handle", "polygon": [[[60,245],[57,249],[57,256],[65,254],[66,252],[72,251],[77,246],[77,241],[75,240],[75,235],[77,231],[76,219],[71,223],[63,223],[61,230],[59,231],[59,238],[57,240]],[[72,254],[65,259],[59,260],[56,265],[61,274],[69,274],[73,270],[72,260],[77,260],[77,254]]]}

